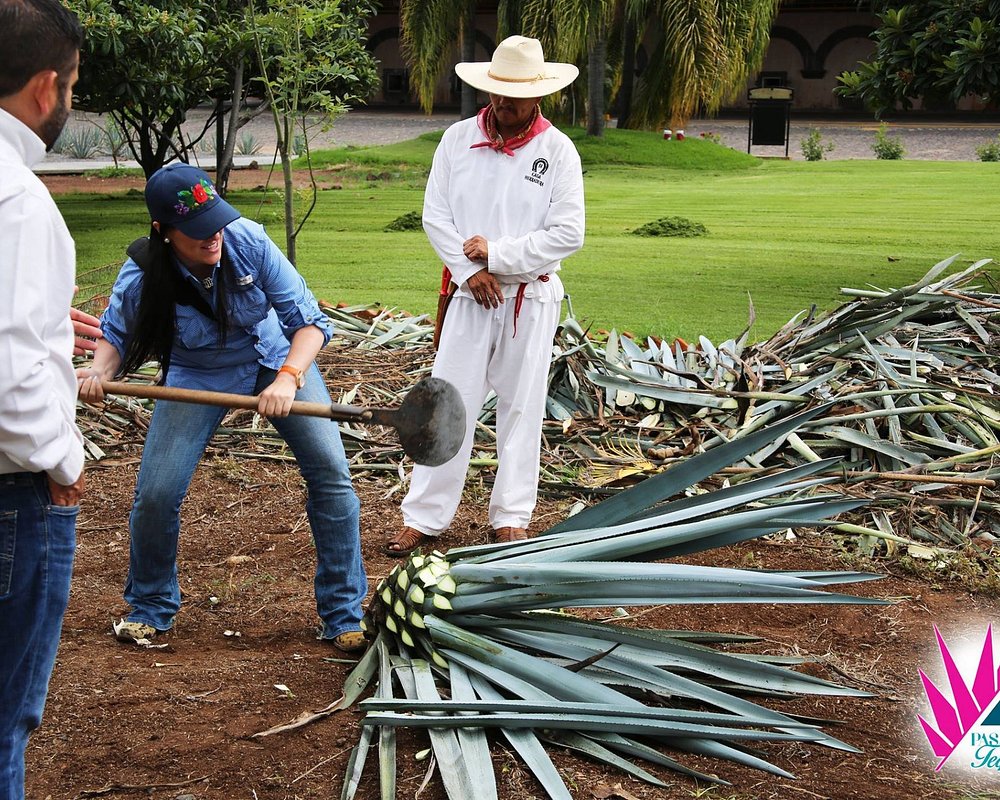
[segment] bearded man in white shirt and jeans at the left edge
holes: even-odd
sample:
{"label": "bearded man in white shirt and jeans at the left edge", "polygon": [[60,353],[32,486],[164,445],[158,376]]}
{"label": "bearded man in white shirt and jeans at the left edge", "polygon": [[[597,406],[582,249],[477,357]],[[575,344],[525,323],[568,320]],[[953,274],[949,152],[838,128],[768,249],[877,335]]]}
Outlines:
{"label": "bearded man in white shirt and jeans at the left edge", "polygon": [[83,31],[58,0],[0,0],[0,798],[24,797],[69,599],[83,440],[73,240],[31,168],[72,102]]}

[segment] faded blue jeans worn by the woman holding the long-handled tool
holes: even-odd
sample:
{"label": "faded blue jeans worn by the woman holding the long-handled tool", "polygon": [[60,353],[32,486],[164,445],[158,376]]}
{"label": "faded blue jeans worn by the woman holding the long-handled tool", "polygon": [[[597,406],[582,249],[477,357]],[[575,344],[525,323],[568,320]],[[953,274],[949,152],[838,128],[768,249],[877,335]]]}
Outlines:
{"label": "faded blue jeans worn by the woman holding the long-handled tool", "polygon": [[[274,380],[262,367],[255,392]],[[329,403],[316,365],[306,373],[297,400]],[[205,447],[226,411],[212,406],[159,400],[143,447],[135,502],[129,518],[131,546],[125,600],[128,619],[160,631],[174,624],[181,605],[177,582],[177,539],[181,502]],[[361,504],[336,423],[319,417],[272,418],[291,448],[306,482],[306,514],[316,544],[316,609],[322,637],[359,630],[361,603],[368,591],[361,562]]]}

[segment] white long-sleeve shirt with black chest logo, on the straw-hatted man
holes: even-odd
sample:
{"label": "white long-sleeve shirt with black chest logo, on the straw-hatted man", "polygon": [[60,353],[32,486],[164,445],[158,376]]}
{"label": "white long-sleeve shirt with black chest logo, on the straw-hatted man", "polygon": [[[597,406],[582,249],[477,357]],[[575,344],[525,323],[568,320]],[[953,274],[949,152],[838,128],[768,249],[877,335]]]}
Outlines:
{"label": "white long-sleeve shirt with black chest logo, on the straw-hatted man", "polygon": [[[569,137],[548,128],[514,151],[470,149],[485,140],[476,118],[457,122],[441,137],[424,193],[423,224],[438,256],[471,297],[466,281],[483,268],[462,245],[483,236],[488,269],[505,297],[526,283],[525,297],[561,301],[555,275],[562,259],[583,246],[583,170]],[[550,275],[548,281],[538,281]]]}

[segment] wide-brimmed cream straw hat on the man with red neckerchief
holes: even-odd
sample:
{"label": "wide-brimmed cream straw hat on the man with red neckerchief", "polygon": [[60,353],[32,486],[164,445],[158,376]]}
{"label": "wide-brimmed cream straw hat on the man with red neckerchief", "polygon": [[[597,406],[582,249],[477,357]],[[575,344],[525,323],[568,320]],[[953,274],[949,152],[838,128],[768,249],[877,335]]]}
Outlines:
{"label": "wide-brimmed cream straw hat on the man with red neckerchief", "polygon": [[492,61],[463,61],[455,72],[470,86],[504,97],[544,97],[580,74],[572,64],[546,61],[542,43],[526,36],[508,36],[497,45]]}

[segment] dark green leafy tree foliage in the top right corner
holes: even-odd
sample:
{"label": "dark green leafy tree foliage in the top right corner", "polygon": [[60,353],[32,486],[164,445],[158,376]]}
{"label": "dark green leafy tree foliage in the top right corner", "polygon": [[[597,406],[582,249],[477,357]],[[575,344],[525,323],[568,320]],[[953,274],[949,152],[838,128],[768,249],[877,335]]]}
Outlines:
{"label": "dark green leafy tree foliage in the top right corner", "polygon": [[835,90],[881,115],[916,99],[1000,100],[1000,0],[879,3],[875,56]]}

